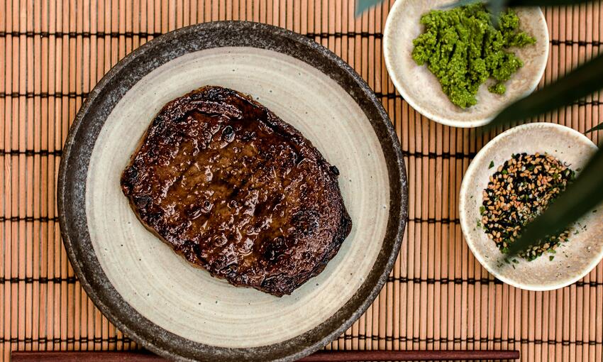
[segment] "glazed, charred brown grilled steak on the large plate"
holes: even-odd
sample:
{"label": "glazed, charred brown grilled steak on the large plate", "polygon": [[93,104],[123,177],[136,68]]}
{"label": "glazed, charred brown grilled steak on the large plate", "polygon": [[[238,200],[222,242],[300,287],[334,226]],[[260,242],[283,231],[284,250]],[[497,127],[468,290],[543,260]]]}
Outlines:
{"label": "glazed, charred brown grilled steak on the large plate", "polygon": [[265,106],[203,87],[161,109],[121,187],[191,263],[280,297],[321,273],[350,234],[338,175]]}

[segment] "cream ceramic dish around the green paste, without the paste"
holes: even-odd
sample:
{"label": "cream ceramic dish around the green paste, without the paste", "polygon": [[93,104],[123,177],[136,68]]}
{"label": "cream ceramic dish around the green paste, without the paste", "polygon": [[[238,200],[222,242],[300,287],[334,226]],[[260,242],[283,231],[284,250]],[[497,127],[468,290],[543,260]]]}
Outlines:
{"label": "cream ceramic dish around the green paste, without the paste", "polygon": [[[540,82],[548,59],[548,28],[540,8],[516,9],[520,27],[536,38],[536,44],[516,49],[524,67],[506,83],[503,95],[488,92],[482,84],[477,104],[467,109],[455,106],[442,92],[438,79],[425,65],[412,59],[412,40],[424,31],[419,22],[424,13],[450,4],[450,0],[398,0],[385,23],[383,54],[394,86],[419,113],[441,124],[477,127],[487,124],[509,103],[533,92]],[[491,79],[490,79],[491,80]]]}

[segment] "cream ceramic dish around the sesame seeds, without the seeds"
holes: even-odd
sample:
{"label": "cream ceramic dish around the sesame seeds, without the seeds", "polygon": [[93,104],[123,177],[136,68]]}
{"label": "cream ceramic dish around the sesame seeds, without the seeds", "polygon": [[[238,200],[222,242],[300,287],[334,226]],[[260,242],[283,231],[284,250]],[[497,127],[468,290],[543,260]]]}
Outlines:
{"label": "cream ceramic dish around the sesame seeds, without the seeds", "polygon": [[[579,221],[579,234],[572,232],[569,240],[557,248],[553,260],[544,253],[533,261],[517,258],[519,263],[502,263],[503,254],[477,225],[482,191],[490,175],[513,153],[548,153],[579,174],[596,151],[590,139],[572,128],[538,123],[511,128],[477,153],[460,186],[460,225],[473,255],[489,273],[521,289],[554,290],[580,280],[597,266],[603,258],[603,209]],[[491,162],[494,166],[489,168]]]}

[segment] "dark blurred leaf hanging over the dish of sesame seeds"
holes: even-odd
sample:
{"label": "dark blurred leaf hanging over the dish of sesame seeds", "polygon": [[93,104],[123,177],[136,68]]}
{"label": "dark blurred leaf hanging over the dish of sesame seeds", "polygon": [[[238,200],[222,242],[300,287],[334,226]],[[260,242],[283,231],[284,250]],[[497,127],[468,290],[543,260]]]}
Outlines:
{"label": "dark blurred leaf hanging over the dish of sesame seeds", "polygon": [[603,148],[597,150],[575,182],[521,231],[521,236],[509,246],[507,258],[526,250],[547,235],[563,231],[600,204],[603,201],[601,170],[603,170]]}

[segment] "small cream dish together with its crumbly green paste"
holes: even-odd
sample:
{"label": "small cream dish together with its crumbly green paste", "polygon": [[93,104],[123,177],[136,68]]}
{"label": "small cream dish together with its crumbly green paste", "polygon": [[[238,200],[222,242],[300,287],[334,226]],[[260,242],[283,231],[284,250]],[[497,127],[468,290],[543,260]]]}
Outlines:
{"label": "small cream dish together with its crumbly green paste", "polygon": [[487,124],[533,92],[548,59],[540,8],[492,16],[485,6],[448,9],[450,0],[397,0],[385,24],[383,53],[394,86],[416,111],[441,124]]}

